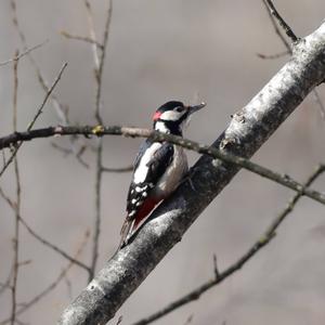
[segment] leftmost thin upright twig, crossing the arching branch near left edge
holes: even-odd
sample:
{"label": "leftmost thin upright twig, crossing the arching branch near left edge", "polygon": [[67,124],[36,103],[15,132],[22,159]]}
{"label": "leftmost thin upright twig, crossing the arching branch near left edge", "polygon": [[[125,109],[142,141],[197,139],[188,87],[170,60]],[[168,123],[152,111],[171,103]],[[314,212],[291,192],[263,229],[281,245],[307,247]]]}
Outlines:
{"label": "leftmost thin upright twig, crossing the arching branch near left edge", "polygon": [[[20,56],[20,52],[16,51],[15,57]],[[18,93],[18,60],[13,63],[14,73],[14,92],[13,92],[13,130],[17,130],[17,93]],[[13,259],[13,281],[12,281],[12,309],[11,309],[11,324],[14,325],[16,321],[16,300],[17,300],[17,281],[20,270],[20,211],[21,211],[21,177],[17,157],[14,158],[14,173],[15,173],[15,186],[16,186],[16,204],[14,208],[15,213],[15,226],[14,226],[14,259]]]}

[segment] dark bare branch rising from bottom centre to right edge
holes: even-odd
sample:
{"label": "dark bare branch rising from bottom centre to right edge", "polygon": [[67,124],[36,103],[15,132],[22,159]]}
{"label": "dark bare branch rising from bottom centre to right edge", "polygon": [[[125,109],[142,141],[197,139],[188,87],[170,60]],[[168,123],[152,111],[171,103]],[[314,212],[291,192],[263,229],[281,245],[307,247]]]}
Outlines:
{"label": "dark bare branch rising from bottom centre to right edge", "polygon": [[[312,184],[312,182],[325,171],[325,166],[320,165],[316,170],[309,177],[307,182],[304,183],[303,187],[308,187]],[[184,297],[171,302],[160,311],[145,317],[139,322],[135,322],[132,325],[146,325],[150,324],[170,312],[179,309],[180,307],[197,300],[205,291],[209,290],[210,288],[214,287],[216,285],[223,282],[230,275],[235,273],[236,271],[240,270],[244,264],[246,264],[259,250],[261,250],[265,245],[268,245],[272,238],[274,238],[276,234],[276,230],[280,224],[285,220],[285,218],[294,210],[298,200],[302,197],[302,193],[297,193],[288,203],[287,207],[271,222],[270,226],[265,230],[265,232],[260,236],[260,238],[231,266],[225,269],[223,272],[219,273],[219,276],[214,276],[212,280],[206,282],[204,285],[199,286],[198,288],[192,290],[190,294],[185,295]]]}

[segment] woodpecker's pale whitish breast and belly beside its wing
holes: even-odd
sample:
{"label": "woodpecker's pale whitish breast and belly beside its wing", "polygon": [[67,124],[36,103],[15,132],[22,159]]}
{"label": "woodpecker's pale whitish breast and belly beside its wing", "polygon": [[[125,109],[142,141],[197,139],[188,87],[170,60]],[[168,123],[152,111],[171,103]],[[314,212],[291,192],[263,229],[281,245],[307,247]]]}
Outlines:
{"label": "woodpecker's pale whitish breast and belly beside its wing", "polygon": [[173,160],[158,181],[151,196],[165,198],[176,190],[188,170],[187,157],[182,147],[173,146]]}

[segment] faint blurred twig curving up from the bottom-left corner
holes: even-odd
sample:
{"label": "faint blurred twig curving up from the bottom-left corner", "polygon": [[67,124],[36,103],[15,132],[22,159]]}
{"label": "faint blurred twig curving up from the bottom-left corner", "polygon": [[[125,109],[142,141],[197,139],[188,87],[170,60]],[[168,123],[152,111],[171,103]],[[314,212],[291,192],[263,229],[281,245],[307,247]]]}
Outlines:
{"label": "faint blurred twig curving up from the bottom-left corner", "polygon": [[[77,260],[79,258],[79,256],[81,255],[82,250],[86,247],[86,244],[88,242],[89,238],[89,231],[86,231],[84,233],[84,238],[82,240],[82,243],[80,244],[80,247],[78,248],[74,260]],[[28,302],[25,302],[23,304],[22,308],[20,308],[16,311],[16,316],[21,315],[22,313],[24,313],[25,311],[27,311],[29,308],[31,308],[35,303],[37,303],[38,301],[40,301],[43,297],[46,297],[48,294],[50,294],[52,290],[55,289],[55,287],[65,278],[66,274],[68,273],[68,271],[75,265],[74,261],[70,261],[66,268],[64,268],[62,270],[62,272],[58,274],[58,276],[49,285],[47,286],[47,288],[44,288],[40,294],[36,295],[34,298],[31,298]],[[0,325],[4,325],[8,324],[10,322],[9,318],[3,320],[0,322]]]}

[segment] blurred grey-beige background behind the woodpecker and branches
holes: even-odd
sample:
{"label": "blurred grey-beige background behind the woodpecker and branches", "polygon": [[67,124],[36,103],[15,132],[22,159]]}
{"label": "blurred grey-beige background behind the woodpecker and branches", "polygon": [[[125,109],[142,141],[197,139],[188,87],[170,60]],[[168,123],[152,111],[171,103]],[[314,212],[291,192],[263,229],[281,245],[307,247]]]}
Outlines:
{"label": "blurred grey-beige background behind the woodpecker and branches", "polygon": [[[107,1],[90,1],[95,31],[102,39]],[[298,36],[312,32],[324,20],[323,0],[276,1],[278,11]],[[89,36],[83,1],[16,0],[17,15],[29,47],[49,40],[32,52],[50,82],[68,63],[55,89],[69,107],[72,123],[93,125],[95,82],[89,43],[67,40],[60,31]],[[23,49],[12,23],[10,1],[0,2],[0,62]],[[151,127],[157,106],[168,100],[205,101],[186,132],[188,139],[211,143],[230,116],[268,82],[288,60],[261,60],[285,51],[262,1],[119,0],[114,1],[103,76],[105,125]],[[28,57],[18,64],[18,130],[26,129],[44,92]],[[318,89],[325,102],[324,86]],[[0,67],[0,135],[12,131],[13,67]],[[57,125],[51,102],[36,127]],[[306,180],[325,161],[325,120],[310,95],[255,155],[253,161]],[[87,141],[87,140],[86,140]],[[94,141],[94,140],[92,140]],[[106,136],[104,165],[131,164],[141,140]],[[22,217],[44,238],[70,255],[92,231],[94,219],[94,153],[87,151],[84,168],[52,143],[69,147],[65,139],[25,143],[18,153]],[[91,142],[90,142],[91,143]],[[93,142],[95,144],[95,142]],[[191,164],[198,156],[188,153]],[[130,173],[105,173],[102,185],[102,233],[98,270],[117,248],[125,218]],[[0,180],[14,198],[13,165]],[[324,190],[325,177],[314,186]],[[131,324],[180,298],[213,276],[213,253],[222,271],[262,234],[292,193],[247,171],[240,171],[214,199],[162,262],[118,311],[116,324]],[[13,260],[14,213],[0,199],[0,282]],[[68,261],[21,230],[18,302],[24,303],[53,283]],[[321,324],[325,318],[325,209],[308,198],[277,232],[276,238],[243,270],[157,324]],[[91,259],[91,245],[79,257]],[[88,275],[73,266],[67,276],[18,320],[24,324],[53,324],[62,310],[86,286]],[[11,311],[10,290],[0,296],[0,321]],[[44,321],[46,320],[46,321]]]}

